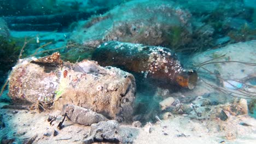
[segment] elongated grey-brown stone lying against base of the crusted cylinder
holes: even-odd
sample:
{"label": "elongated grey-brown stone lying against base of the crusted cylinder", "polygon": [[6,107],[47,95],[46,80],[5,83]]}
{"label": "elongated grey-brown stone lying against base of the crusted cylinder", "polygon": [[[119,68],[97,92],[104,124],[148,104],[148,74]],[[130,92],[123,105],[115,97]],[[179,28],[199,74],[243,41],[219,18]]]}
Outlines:
{"label": "elongated grey-brown stone lying against base of the crusted cylinder", "polygon": [[91,125],[93,123],[107,121],[107,118],[103,115],[75,105],[63,105],[62,113],[67,113],[67,117],[72,122],[83,125]]}

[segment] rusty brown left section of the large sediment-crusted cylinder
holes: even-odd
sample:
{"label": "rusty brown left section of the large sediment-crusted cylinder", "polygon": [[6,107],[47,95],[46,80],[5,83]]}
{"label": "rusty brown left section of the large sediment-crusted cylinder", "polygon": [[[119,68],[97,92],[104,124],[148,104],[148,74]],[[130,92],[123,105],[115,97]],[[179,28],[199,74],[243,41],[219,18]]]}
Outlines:
{"label": "rusty brown left section of the large sediment-crusted cylinder", "polygon": [[15,103],[53,103],[61,65],[59,53],[40,59],[20,59],[9,76],[11,99]]}

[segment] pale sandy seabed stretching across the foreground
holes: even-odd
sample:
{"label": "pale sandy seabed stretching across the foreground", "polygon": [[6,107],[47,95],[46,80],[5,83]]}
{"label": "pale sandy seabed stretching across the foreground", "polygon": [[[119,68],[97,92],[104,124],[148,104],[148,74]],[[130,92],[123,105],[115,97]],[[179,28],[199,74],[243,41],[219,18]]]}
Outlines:
{"label": "pale sandy seabed stretching across the foreground", "polygon": [[[6,105],[1,103],[1,107]],[[14,139],[14,143],[22,143],[36,136],[33,143],[83,143],[89,136],[90,127],[66,120],[59,130],[57,124],[62,121],[60,111],[37,113],[31,110],[1,109],[5,128],[1,137]],[[49,116],[57,116],[51,125]],[[246,123],[248,125],[242,125]],[[228,121],[220,119],[197,120],[188,116],[171,116],[152,124],[151,133],[131,124],[121,123],[120,135],[133,143],[255,143],[256,121],[249,116],[231,116]],[[54,136],[54,130],[57,135]],[[15,137],[15,138],[13,138]]]}

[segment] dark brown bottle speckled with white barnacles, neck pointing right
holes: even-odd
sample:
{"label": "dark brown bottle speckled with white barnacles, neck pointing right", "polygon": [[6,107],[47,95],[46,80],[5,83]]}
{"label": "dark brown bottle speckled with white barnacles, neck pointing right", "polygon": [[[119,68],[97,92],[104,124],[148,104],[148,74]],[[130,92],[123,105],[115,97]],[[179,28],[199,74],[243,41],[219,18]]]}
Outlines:
{"label": "dark brown bottle speckled with white barnacles, neck pointing right", "polygon": [[183,69],[177,56],[165,47],[109,41],[97,47],[92,59],[102,66],[143,74],[162,88],[193,89],[197,83],[196,71]]}

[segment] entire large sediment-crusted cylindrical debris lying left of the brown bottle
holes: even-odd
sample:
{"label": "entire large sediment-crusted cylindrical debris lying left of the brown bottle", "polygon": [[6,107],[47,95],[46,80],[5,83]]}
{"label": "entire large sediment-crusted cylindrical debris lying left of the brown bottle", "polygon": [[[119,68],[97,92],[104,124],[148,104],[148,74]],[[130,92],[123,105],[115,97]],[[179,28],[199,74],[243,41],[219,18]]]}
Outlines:
{"label": "entire large sediment-crusted cylindrical debris lying left of the brown bottle", "polygon": [[62,62],[59,53],[20,59],[9,77],[15,103],[54,103],[59,110],[73,104],[119,121],[131,118],[135,92],[133,75],[94,61]]}

